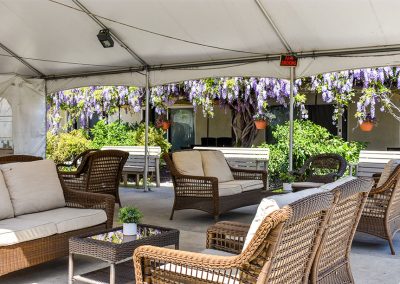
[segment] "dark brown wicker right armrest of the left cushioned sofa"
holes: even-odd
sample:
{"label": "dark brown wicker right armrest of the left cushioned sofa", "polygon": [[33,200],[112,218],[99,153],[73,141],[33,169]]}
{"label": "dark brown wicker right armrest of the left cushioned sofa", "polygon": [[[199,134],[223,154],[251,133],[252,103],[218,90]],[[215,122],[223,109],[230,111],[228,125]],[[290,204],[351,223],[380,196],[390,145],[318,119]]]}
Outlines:
{"label": "dark brown wicker right armrest of the left cushioned sofa", "polygon": [[64,189],[67,207],[103,209],[107,214],[107,228],[112,228],[115,197],[109,194],[99,194]]}

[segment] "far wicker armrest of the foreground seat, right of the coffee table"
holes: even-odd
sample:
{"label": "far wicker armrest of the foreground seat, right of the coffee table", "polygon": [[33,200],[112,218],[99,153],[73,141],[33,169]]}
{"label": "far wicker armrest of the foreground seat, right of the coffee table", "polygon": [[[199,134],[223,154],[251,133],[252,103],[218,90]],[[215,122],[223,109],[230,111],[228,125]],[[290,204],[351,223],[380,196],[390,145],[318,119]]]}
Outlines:
{"label": "far wicker armrest of the foreground seat, right of the coffee table", "polygon": [[250,226],[238,222],[218,222],[207,229],[207,248],[240,254]]}

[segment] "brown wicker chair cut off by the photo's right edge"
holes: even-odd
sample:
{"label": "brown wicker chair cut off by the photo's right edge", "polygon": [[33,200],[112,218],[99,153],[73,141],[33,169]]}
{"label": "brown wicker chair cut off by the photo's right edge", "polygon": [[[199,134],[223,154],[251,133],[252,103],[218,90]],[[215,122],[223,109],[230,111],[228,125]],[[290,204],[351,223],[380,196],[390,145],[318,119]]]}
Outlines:
{"label": "brown wicker chair cut off by the photo's right edge", "polygon": [[395,254],[393,237],[400,230],[400,165],[369,193],[357,231],[385,239]]}

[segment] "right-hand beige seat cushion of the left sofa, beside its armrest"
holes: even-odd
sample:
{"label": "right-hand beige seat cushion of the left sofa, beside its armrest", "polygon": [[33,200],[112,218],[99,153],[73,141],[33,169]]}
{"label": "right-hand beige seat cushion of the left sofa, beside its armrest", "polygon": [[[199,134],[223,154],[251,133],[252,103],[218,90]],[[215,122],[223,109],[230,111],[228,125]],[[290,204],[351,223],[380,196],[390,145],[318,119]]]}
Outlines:
{"label": "right-hand beige seat cushion of the left sofa, beside its armrest", "polygon": [[70,207],[22,215],[18,218],[25,221],[51,222],[55,224],[58,234],[96,226],[107,221],[104,210]]}

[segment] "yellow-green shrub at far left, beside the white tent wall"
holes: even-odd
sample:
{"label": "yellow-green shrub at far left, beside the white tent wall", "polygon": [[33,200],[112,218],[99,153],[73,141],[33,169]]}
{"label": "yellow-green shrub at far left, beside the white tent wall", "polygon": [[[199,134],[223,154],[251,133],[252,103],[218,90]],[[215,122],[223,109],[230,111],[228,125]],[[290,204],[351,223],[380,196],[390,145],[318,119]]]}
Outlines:
{"label": "yellow-green shrub at far left, beside the white tent wall", "polygon": [[73,130],[58,135],[47,132],[46,156],[56,163],[71,161],[85,150],[91,148],[91,142],[83,130]]}

